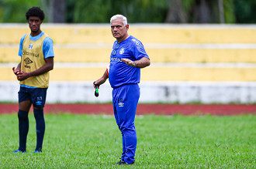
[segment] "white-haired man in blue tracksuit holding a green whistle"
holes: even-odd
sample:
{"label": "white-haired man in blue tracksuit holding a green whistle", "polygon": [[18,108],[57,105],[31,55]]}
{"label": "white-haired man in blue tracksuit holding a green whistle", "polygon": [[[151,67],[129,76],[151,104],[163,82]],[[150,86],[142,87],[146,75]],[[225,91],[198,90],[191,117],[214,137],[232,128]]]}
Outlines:
{"label": "white-haired man in blue tracksuit holding a green whistle", "polygon": [[110,19],[112,36],[116,38],[110,55],[109,71],[105,71],[93,86],[96,89],[109,78],[112,86],[112,105],[119,130],[123,138],[123,154],[116,163],[134,164],[137,134],[134,120],[140,98],[140,69],[150,65],[149,56],[143,44],[128,35],[129,25],[123,15]]}

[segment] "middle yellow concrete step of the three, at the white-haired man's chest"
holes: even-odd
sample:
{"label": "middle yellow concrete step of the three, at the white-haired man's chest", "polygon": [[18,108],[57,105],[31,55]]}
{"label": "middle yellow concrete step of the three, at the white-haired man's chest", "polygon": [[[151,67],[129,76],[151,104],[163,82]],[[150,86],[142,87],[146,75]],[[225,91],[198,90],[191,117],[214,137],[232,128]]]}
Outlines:
{"label": "middle yellow concrete step of the three, at the white-haired man's chest", "polygon": [[[102,63],[112,45],[54,44],[57,63]],[[256,44],[145,44],[152,63],[256,63]],[[19,62],[18,44],[0,44],[0,63]]]}

